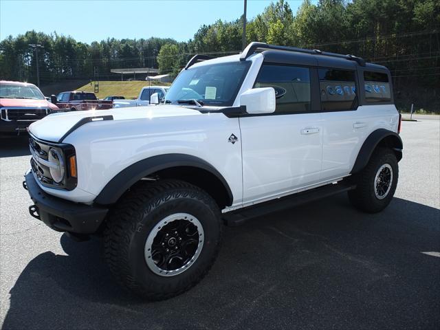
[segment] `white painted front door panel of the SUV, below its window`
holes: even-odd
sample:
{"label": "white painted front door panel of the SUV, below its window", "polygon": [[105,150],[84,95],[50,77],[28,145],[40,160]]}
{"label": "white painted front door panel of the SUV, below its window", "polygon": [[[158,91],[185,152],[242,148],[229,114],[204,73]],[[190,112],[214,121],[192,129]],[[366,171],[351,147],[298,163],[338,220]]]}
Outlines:
{"label": "white painted front door panel of the SUV, below its window", "polygon": [[[303,135],[307,127],[318,132]],[[319,181],[320,113],[244,117],[240,128],[244,202]]]}

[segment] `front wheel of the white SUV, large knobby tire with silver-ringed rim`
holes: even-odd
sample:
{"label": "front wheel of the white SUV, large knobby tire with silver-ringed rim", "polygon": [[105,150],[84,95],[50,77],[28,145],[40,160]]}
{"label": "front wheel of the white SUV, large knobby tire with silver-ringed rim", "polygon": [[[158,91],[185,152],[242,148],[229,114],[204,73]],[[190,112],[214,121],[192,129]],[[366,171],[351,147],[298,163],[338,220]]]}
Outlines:
{"label": "front wheel of the white SUV, large knobby tire with silver-ringed rim", "polygon": [[201,281],[217,256],[220,211],[203,190],[183,181],[131,188],[104,230],[115,278],[148,300],[177,296]]}

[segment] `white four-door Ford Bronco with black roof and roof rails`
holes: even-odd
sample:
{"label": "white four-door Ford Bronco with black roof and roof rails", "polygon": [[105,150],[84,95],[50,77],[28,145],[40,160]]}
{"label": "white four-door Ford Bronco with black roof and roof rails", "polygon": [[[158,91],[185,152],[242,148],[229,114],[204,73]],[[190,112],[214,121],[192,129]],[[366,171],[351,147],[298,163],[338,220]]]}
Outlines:
{"label": "white four-door Ford Bronco with black roof and roof rails", "polygon": [[30,213],[76,239],[102,236],[135,294],[160,300],[201,281],[224,223],[337,192],[364,212],[393,198],[402,142],[386,67],[251,43],[195,56],[161,103],[55,113],[29,129]]}

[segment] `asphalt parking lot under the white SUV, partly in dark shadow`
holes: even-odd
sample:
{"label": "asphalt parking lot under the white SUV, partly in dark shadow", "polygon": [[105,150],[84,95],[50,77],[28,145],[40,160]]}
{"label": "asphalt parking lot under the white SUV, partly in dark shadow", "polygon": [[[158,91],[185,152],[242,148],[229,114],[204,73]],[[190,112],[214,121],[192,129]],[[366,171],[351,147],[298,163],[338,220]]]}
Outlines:
{"label": "asphalt parking lot under the white SUV, partly in dark shadow", "polygon": [[[417,118],[417,116],[416,116]],[[113,282],[100,241],[28,214],[26,137],[0,140],[2,329],[439,329],[440,120],[403,122],[395,199],[362,214],[346,195],[226,228],[186,294],[145,303]]]}

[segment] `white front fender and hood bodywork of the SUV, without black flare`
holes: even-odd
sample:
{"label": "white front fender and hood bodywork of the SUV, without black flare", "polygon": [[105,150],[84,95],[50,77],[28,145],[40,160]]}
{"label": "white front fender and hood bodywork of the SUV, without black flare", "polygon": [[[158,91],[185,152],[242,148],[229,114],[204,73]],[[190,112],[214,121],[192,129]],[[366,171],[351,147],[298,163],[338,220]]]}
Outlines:
{"label": "white front fender and hood bodywork of the SUV, without black flare", "polygon": [[[96,112],[113,115],[114,120],[89,122],[63,141],[76,149],[78,186],[72,191],[41,186],[48,193],[90,203],[115,175],[131,164],[155,155],[184,153],[216,168],[228,181],[234,203],[241,203],[241,139],[235,144],[228,142],[232,133],[240,136],[238,118],[171,105]],[[76,114],[84,118],[96,115],[92,111]],[[58,141],[67,127],[80,120],[72,120],[70,113],[63,115],[36,122],[31,133],[42,140]],[[52,131],[51,139],[47,139],[43,132],[54,126],[65,129]]]}

